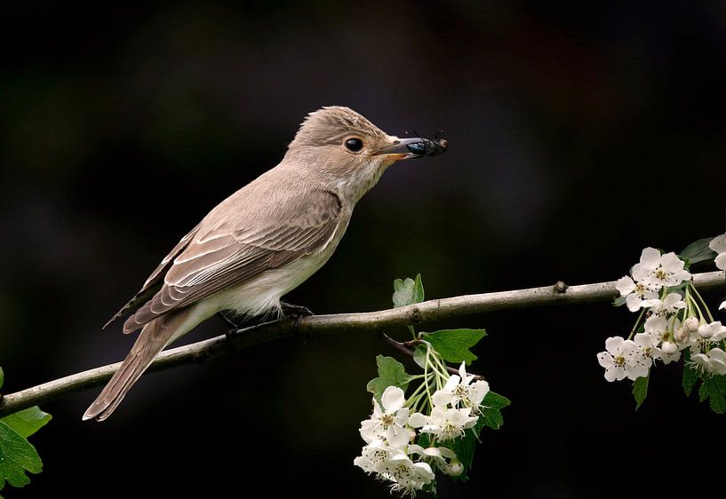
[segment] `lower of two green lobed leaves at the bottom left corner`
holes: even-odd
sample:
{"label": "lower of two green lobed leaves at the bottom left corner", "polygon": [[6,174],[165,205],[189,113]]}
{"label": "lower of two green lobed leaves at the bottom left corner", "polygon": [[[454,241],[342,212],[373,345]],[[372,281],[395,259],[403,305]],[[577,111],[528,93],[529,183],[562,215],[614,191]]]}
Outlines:
{"label": "lower of two green lobed leaves at the bottom left corner", "polygon": [[9,424],[0,421],[0,489],[6,481],[12,487],[23,487],[30,483],[26,471],[43,471],[43,463],[36,448]]}

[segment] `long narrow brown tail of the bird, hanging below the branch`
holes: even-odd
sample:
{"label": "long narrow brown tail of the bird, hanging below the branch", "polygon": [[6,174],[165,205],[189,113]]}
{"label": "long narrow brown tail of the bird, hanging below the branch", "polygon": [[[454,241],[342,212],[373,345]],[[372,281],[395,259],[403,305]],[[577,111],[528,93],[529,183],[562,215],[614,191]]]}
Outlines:
{"label": "long narrow brown tail of the bird, hanging below the branch", "polygon": [[121,367],[118,368],[91,407],[85,411],[84,421],[87,419],[103,421],[111,416],[121,400],[124,400],[126,392],[156,359],[156,355],[164,350],[166,345],[180,337],[180,333],[186,332],[181,331],[180,328],[184,326],[188,313],[187,308],[164,314],[155,321],[148,322],[141,329],[136,343],[132,346],[132,351],[129,352]]}

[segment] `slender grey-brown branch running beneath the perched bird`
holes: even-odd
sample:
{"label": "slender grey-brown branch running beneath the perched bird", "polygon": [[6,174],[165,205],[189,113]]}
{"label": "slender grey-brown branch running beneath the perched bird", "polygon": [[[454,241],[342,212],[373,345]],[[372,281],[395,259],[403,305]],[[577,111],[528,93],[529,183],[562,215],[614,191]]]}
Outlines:
{"label": "slender grey-brown branch running beneath the perched bird", "polygon": [[[716,289],[726,283],[723,272],[697,273],[693,284],[698,289]],[[442,321],[470,313],[493,312],[531,306],[566,305],[610,301],[618,296],[615,281],[567,286],[562,281],[543,288],[518,289],[462,297],[428,300],[379,312],[311,315],[299,320],[266,322],[227,335],[213,337],[191,345],[172,348],[159,354],[149,370],[172,368],[202,362],[222,354],[295,335],[372,332],[395,326]],[[105,384],[121,362],[93,368],[74,375],[38,384],[20,392],[9,393],[0,400],[0,416],[7,416],[85,388]]]}

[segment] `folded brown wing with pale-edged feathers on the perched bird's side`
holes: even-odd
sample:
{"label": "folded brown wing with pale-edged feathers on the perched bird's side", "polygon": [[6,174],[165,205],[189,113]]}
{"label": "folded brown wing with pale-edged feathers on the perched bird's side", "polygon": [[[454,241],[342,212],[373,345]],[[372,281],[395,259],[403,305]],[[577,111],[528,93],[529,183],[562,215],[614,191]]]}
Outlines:
{"label": "folded brown wing with pale-edged feathers on the perched bird's side", "polygon": [[197,231],[166,270],[162,288],[124,323],[124,333],[323,249],[339,226],[341,210],[336,194],[307,191],[304,198],[290,195],[267,210],[267,218],[242,213]]}

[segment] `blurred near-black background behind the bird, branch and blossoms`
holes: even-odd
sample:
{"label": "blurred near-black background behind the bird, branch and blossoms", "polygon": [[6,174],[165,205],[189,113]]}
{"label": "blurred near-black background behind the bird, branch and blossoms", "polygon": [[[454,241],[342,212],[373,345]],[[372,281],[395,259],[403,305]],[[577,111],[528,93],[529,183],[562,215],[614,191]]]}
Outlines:
{"label": "blurred near-black background behind the bird, branch and blossoms", "polygon": [[[615,280],[645,246],[723,231],[722,2],[20,4],[0,16],[5,392],[122,359],[133,338],[100,326],[324,105],[451,148],[363,198],[288,297],[316,313],[387,308],[417,272],[427,297]],[[599,304],[440,324],[488,329],[472,370],[513,400],[441,495],[719,487],[701,453],[726,420],[679,368],[656,369],[638,412],[604,381],[595,354],[632,321]],[[388,497],[352,464],[377,353],[395,355],[370,335],[259,345],[144,376],[103,424],[81,422],[100,389],[48,403],[44,472],[3,494]]]}

